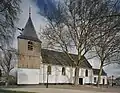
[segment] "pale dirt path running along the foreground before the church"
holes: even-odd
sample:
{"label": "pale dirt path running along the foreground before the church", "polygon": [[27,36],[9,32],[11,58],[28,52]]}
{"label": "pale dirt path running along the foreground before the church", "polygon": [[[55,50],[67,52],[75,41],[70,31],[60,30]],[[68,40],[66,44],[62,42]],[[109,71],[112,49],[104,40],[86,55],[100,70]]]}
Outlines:
{"label": "pale dirt path running along the foreground before the church", "polygon": [[9,90],[28,91],[37,93],[120,93],[120,86],[116,87],[101,87],[95,86],[73,86],[73,85],[49,85],[46,88],[45,85],[27,85],[27,86],[15,86],[14,88],[4,88]]}

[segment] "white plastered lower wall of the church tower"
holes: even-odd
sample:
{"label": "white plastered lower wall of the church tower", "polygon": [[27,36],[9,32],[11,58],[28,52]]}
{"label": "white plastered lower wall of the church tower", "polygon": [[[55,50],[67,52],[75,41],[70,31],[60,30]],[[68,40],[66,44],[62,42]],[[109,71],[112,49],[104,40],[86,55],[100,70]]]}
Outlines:
{"label": "white plastered lower wall of the church tower", "polygon": [[39,69],[17,69],[17,84],[39,84]]}

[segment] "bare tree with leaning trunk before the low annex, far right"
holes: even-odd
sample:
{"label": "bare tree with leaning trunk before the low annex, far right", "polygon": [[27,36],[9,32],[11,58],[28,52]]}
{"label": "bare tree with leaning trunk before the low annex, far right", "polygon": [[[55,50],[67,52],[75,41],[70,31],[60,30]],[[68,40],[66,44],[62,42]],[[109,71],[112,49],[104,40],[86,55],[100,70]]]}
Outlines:
{"label": "bare tree with leaning trunk before the low annex, far right", "polygon": [[119,0],[113,2],[107,2],[107,7],[103,7],[107,10],[105,15],[100,17],[101,22],[96,22],[95,33],[93,33],[91,39],[93,44],[93,50],[97,58],[100,60],[100,72],[98,75],[97,86],[99,86],[102,69],[104,66],[111,63],[119,64],[119,53],[120,53],[120,9]]}

